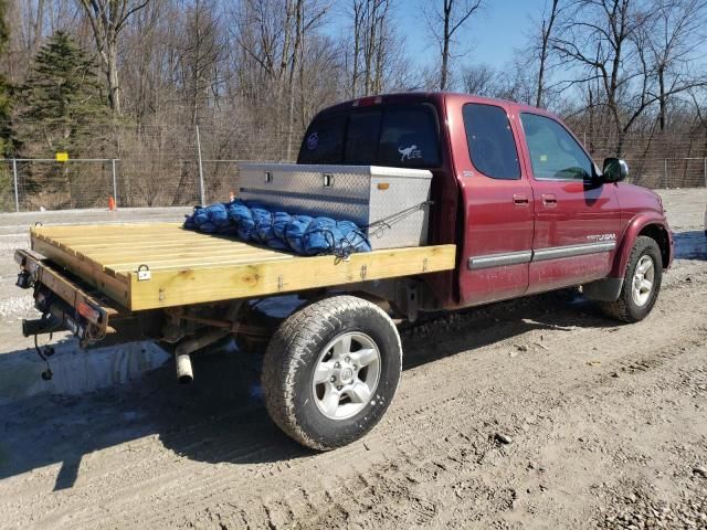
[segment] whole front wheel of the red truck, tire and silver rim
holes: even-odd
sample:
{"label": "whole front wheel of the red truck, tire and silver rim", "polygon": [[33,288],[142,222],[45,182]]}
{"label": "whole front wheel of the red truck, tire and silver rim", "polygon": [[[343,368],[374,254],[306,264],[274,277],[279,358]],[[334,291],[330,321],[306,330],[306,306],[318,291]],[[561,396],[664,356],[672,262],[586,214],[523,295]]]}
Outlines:
{"label": "whole front wheel of the red truck, tire and silver rim", "polygon": [[624,322],[643,320],[653,309],[663,279],[663,258],[655,240],[636,239],[616,301],[603,304],[604,311]]}

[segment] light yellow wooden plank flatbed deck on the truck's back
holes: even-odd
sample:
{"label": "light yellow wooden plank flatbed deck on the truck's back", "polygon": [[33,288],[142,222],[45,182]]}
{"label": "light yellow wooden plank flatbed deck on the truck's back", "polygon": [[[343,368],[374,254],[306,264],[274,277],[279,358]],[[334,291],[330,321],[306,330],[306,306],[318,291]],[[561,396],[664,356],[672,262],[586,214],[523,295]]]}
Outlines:
{"label": "light yellow wooden plank flatbed deck on the truck's back", "polygon": [[[295,256],[181,224],[39,226],[32,248],[128,310],[165,308],[355,282],[413,276],[455,266],[455,245],[336,256]],[[138,278],[146,265],[149,279]]]}

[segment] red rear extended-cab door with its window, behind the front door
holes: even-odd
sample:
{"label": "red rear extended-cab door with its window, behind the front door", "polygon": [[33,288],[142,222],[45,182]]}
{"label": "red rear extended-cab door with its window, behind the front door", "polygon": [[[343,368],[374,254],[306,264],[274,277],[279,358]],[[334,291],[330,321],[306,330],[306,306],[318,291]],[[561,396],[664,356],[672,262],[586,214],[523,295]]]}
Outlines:
{"label": "red rear extended-cab door with its window, behind the front door", "polygon": [[466,103],[460,114],[451,128],[464,209],[461,301],[520,296],[528,288],[534,203],[519,129],[503,104]]}

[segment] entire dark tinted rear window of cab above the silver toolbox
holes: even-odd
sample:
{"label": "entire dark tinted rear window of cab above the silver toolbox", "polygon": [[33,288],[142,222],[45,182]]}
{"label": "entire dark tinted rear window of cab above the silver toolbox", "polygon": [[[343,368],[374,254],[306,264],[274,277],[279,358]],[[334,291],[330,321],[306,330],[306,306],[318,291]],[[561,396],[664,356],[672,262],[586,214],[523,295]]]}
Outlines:
{"label": "entire dark tinted rear window of cab above the silver toolbox", "polygon": [[317,117],[305,134],[298,162],[439,167],[434,109],[391,105]]}

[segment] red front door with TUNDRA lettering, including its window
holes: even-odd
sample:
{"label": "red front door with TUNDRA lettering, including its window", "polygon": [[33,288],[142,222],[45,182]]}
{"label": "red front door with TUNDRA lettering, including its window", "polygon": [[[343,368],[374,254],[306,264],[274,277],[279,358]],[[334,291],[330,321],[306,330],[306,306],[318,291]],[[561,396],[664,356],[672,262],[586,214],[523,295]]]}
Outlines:
{"label": "red front door with TUNDRA lettering, including its window", "polygon": [[520,123],[535,202],[528,293],[606,276],[621,223],[614,186],[597,183],[598,169],[562,124],[531,113]]}

